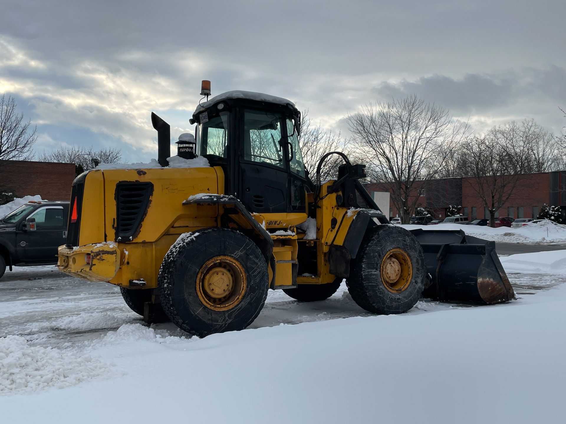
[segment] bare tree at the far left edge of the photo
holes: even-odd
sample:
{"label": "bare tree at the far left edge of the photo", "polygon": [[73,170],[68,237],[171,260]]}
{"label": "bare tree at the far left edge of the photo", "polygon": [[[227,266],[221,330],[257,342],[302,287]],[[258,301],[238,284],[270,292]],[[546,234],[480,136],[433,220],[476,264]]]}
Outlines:
{"label": "bare tree at the far left edge of the photo", "polygon": [[32,146],[37,140],[36,127],[24,121],[24,114],[16,112],[13,97],[2,94],[0,98],[0,160],[23,160],[33,158]]}

